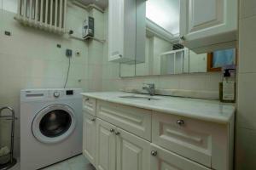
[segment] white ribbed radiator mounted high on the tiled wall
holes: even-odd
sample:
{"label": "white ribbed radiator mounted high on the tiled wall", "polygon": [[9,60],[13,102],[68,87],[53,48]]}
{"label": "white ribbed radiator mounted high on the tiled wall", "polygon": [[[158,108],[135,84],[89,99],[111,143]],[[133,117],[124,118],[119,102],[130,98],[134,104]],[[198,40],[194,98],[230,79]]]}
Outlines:
{"label": "white ribbed radiator mounted high on the tiled wall", "polygon": [[18,0],[15,20],[26,26],[65,32],[67,0]]}

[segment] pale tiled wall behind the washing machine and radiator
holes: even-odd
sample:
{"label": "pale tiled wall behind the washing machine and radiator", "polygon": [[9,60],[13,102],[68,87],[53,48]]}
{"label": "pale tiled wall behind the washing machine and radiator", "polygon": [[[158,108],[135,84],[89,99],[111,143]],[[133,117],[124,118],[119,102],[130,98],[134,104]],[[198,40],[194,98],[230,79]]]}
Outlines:
{"label": "pale tiled wall behind the washing machine and radiator", "polygon": [[[63,88],[67,76],[68,59],[66,48],[73,49],[67,88],[83,88],[84,91],[102,89],[102,42],[83,42],[68,36],[40,31],[21,26],[14,20],[17,0],[0,0],[0,107],[15,108],[20,117],[20,89],[22,88]],[[3,4],[3,7],[2,7]],[[9,12],[9,11],[11,12]],[[79,35],[87,11],[76,6],[67,8],[67,30]],[[103,15],[92,10],[96,19],[96,36],[102,37]],[[100,30],[100,31],[99,31]],[[11,37],[4,31],[11,31]],[[61,44],[61,48],[56,45]],[[79,56],[75,52],[80,52]],[[0,122],[0,147],[7,139],[7,122]],[[19,153],[20,122],[15,128],[15,155]],[[1,137],[0,137],[1,138]]]}

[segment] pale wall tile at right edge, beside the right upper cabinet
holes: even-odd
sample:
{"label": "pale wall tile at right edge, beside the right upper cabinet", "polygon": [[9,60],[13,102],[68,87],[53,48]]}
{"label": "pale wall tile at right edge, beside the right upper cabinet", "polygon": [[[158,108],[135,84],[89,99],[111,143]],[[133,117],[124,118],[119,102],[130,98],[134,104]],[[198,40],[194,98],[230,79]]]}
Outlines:
{"label": "pale wall tile at right edge, beside the right upper cabinet", "polygon": [[[256,1],[255,1],[256,2]],[[239,72],[256,72],[256,16],[240,21]]]}

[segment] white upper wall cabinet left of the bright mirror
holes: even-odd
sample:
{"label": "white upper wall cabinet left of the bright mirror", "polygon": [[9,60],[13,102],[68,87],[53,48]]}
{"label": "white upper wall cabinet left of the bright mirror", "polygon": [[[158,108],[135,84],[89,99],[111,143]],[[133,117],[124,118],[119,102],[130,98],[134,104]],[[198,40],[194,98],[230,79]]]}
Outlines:
{"label": "white upper wall cabinet left of the bright mirror", "polygon": [[[142,38],[139,38],[140,36],[137,35],[137,31],[143,31],[142,24],[137,25],[137,14],[143,14],[142,11],[137,11],[137,6],[140,5],[139,1],[141,0],[108,1],[109,61],[134,64],[136,54],[141,53],[136,48],[136,42],[142,40]],[[142,4],[145,6],[145,3]],[[139,8],[140,10],[145,10],[145,8]],[[142,22],[145,23],[145,21]],[[143,37],[143,33],[140,32],[140,35]],[[143,51],[145,51],[144,48]],[[141,54],[141,56],[143,56],[143,54]]]}

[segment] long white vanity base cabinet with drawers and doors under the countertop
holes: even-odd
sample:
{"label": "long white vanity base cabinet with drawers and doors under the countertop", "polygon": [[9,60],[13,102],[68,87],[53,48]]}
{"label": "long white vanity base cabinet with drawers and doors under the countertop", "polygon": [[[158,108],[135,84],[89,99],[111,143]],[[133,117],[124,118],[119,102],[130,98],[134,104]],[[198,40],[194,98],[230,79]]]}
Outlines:
{"label": "long white vanity base cabinet with drawers and doors under the countertop", "polygon": [[85,101],[96,116],[84,113],[83,153],[97,170],[233,169],[234,117],[222,124]]}

